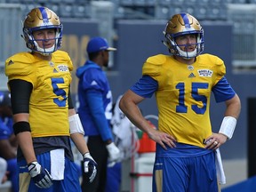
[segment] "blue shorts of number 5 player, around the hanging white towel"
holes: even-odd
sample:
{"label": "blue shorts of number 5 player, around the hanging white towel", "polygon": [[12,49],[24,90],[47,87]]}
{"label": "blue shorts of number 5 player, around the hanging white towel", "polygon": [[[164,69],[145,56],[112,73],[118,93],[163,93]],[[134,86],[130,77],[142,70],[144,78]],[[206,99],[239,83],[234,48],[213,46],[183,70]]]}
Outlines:
{"label": "blue shorts of number 5 player, around the hanging white towel", "polygon": [[[39,164],[51,173],[50,152],[36,156]],[[25,160],[18,161],[20,175],[20,191],[28,192],[81,192],[79,176],[75,162],[71,162],[65,157],[64,180],[52,180],[51,188],[37,188],[28,174],[28,166]]]}

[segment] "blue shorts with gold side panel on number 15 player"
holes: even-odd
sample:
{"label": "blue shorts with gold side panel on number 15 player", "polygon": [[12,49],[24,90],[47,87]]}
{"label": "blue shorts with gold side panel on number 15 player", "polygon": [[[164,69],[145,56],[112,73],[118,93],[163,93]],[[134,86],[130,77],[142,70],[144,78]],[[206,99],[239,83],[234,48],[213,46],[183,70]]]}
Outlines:
{"label": "blue shorts with gold side panel on number 15 player", "polygon": [[[196,148],[196,153],[202,150],[199,152],[200,155],[185,154],[180,157],[181,148],[178,149],[180,152],[174,152],[174,156],[172,150],[177,150],[175,148],[164,150],[158,146],[156,150],[160,150],[158,154],[161,155],[157,156],[156,152],[153,192],[218,192],[214,151]],[[183,150],[193,152],[194,148]]]}

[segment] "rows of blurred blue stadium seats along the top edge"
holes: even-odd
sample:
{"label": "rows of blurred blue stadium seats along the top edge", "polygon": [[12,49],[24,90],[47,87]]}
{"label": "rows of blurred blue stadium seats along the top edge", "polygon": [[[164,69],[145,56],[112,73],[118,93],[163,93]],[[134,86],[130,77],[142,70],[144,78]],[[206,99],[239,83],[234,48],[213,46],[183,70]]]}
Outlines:
{"label": "rows of blurred blue stadium seats along the top edge", "polygon": [[[106,1],[106,0],[104,0]],[[32,7],[50,7],[62,18],[90,18],[92,0],[0,0]],[[108,0],[114,4],[115,19],[169,19],[177,12],[189,12],[198,20],[227,20],[227,4],[256,4],[256,0]]]}

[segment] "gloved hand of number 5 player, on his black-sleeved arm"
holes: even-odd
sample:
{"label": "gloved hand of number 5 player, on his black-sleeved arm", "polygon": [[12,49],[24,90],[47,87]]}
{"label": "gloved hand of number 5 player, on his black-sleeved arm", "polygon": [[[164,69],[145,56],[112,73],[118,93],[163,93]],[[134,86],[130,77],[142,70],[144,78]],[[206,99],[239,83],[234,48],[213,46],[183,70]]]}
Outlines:
{"label": "gloved hand of number 5 player, on his black-sleeved arm", "polygon": [[28,164],[28,173],[38,188],[50,188],[52,186],[52,176],[41,164],[37,162]]}

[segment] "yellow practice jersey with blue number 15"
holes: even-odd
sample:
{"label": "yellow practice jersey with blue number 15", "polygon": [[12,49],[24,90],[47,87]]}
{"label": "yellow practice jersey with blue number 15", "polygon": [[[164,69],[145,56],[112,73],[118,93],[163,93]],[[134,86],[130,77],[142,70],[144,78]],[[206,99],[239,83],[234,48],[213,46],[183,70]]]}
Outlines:
{"label": "yellow practice jersey with blue number 15", "polygon": [[202,54],[195,63],[187,65],[159,54],[148,58],[142,73],[158,83],[159,130],[170,133],[180,143],[204,147],[203,140],[212,134],[209,116],[212,87],[226,73],[223,61]]}

